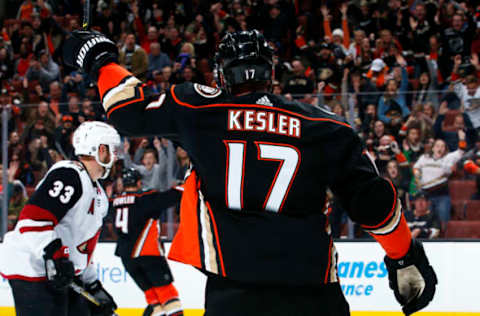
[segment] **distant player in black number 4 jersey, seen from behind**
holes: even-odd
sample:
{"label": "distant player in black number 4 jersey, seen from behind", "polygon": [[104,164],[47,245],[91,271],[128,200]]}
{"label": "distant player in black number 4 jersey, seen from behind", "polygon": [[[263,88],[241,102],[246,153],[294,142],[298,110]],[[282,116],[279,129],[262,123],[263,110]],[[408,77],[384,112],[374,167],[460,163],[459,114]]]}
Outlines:
{"label": "distant player in black number 4 jersey, seen from behind", "polygon": [[160,212],[180,201],[182,188],[165,192],[141,189],[141,174],[125,169],[124,192],[112,199],[118,235],[115,255],[145,293],[144,316],[183,315],[160,238]]}

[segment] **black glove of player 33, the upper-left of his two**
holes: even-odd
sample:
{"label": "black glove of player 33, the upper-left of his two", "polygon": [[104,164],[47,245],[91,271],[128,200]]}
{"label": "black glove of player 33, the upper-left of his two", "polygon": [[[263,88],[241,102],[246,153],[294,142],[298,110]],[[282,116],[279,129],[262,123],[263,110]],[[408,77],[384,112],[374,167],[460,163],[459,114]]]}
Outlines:
{"label": "black glove of player 33, the upper-left of his two", "polygon": [[63,246],[57,238],[43,249],[43,253],[48,284],[55,291],[65,290],[75,276],[73,262],[68,259],[68,247]]}

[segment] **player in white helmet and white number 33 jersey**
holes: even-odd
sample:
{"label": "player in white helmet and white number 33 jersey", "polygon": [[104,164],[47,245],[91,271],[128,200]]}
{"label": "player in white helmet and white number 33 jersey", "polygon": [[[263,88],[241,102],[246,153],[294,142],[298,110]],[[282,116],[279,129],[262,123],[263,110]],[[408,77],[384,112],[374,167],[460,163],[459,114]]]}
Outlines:
{"label": "player in white helmet and white number 33 jersey", "polygon": [[[0,273],[9,280],[17,315],[112,315],[115,302],[91,259],[108,211],[98,180],[108,176],[118,145],[120,136],[110,125],[81,124],[73,135],[79,161],[53,165],[5,235]],[[100,307],[69,292],[74,279]]]}

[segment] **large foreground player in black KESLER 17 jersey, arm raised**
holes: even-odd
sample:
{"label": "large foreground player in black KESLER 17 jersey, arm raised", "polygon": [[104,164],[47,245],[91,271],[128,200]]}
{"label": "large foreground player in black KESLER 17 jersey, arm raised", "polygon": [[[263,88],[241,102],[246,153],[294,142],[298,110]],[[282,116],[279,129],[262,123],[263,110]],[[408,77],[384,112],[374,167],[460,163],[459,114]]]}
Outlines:
{"label": "large foreground player in black KESLER 17 jersey, arm raised", "polygon": [[97,80],[121,132],[161,135],[188,152],[194,168],[169,258],[208,276],[207,316],[349,314],[319,209],[327,188],[385,249],[404,313],[433,299],[435,272],[395,187],[344,120],[269,93],[273,53],[260,33],[223,38],[221,89],[184,83],[161,95],[116,63],[115,44],[101,34],[73,32],[64,51],[67,64]]}

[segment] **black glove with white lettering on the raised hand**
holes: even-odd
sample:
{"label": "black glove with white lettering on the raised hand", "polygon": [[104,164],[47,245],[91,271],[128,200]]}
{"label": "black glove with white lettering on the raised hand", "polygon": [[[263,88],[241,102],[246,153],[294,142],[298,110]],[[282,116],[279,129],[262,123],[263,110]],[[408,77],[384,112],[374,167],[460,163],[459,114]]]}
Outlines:
{"label": "black glove with white lettering on the raised hand", "polygon": [[99,69],[118,60],[114,42],[96,31],[73,31],[63,45],[63,61],[97,80]]}

